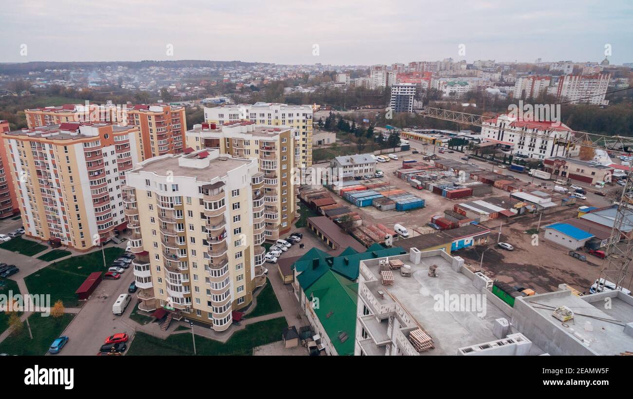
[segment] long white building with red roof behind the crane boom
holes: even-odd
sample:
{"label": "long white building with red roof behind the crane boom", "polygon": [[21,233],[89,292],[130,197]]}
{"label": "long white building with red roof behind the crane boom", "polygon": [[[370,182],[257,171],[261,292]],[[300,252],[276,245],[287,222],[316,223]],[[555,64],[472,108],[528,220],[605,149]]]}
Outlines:
{"label": "long white building with red roof behind the crane boom", "polygon": [[[577,155],[577,148],[558,146],[558,139],[568,139],[573,132],[560,122],[514,120],[510,115],[499,115],[482,122],[481,136],[487,141],[513,151],[513,154],[545,159],[551,156]],[[506,130],[506,129],[512,130]],[[518,130],[518,131],[517,131]]]}

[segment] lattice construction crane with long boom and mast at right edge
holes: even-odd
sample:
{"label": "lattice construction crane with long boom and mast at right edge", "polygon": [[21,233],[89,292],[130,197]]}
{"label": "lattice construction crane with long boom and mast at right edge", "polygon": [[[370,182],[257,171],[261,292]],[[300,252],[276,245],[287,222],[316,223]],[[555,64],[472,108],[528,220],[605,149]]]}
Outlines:
{"label": "lattice construction crane with long boom and mast at right edge", "polygon": [[[548,129],[547,135],[538,134],[536,130],[542,130],[538,125],[534,126],[532,131],[523,130],[522,128],[511,127],[508,125],[486,124],[486,120],[490,117],[484,115],[475,115],[461,111],[443,110],[442,108],[425,107],[419,112],[423,117],[446,120],[457,124],[466,124],[479,127],[487,127],[494,129],[503,129],[505,132],[513,132],[523,136],[553,139],[554,144],[565,146],[569,149],[573,146],[584,146],[593,149],[603,149],[606,151],[626,151],[629,147],[633,147],[633,137],[626,136],[603,136],[601,134],[593,134],[587,132],[579,132],[577,130],[563,129],[555,127]],[[529,129],[529,122],[525,122],[525,127]],[[536,128],[539,129],[536,129]],[[551,137],[552,132],[561,132],[564,134]],[[633,260],[633,173],[631,169],[626,176],[626,182],[622,189],[622,195],[618,203],[615,220],[611,228],[611,234],[605,250],[606,257],[603,260],[598,283],[610,281],[615,284],[615,289],[625,288],[625,279],[629,273],[629,265]],[[624,236],[624,240],[622,237]],[[631,281],[629,279],[628,289],[630,290]],[[604,284],[603,283],[603,284]],[[599,284],[596,284],[596,292],[603,291]]]}

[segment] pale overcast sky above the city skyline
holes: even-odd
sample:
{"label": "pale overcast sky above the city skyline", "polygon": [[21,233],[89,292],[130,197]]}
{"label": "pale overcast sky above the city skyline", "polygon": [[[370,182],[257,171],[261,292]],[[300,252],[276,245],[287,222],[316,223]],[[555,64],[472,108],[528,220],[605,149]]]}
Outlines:
{"label": "pale overcast sky above the city skyline", "polygon": [[633,62],[630,0],[2,3],[0,62]]}

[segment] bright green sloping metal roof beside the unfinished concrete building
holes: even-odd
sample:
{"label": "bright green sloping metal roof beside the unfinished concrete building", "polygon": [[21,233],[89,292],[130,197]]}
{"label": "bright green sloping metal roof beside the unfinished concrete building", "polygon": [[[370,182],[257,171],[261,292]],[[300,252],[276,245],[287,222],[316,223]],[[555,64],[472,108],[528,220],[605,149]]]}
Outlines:
{"label": "bright green sloping metal roof beside the unfinished concrete building", "polygon": [[318,298],[313,311],[339,355],[354,355],[358,283],[327,270],[305,291]]}

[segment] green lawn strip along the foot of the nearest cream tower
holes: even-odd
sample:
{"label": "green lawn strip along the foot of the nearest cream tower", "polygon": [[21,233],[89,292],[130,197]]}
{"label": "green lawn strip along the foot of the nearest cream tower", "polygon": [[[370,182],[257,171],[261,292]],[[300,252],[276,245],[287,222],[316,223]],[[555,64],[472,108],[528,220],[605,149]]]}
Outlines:
{"label": "green lawn strip along the foot of the nearest cream tower", "polygon": [[[258,322],[234,333],[227,343],[196,335],[197,354],[206,356],[252,355],[255,346],[281,341],[282,329],[287,326],[288,323],[284,317]],[[178,356],[193,355],[193,353],[191,334],[172,334],[167,339],[160,339],[138,331],[127,355]]]}

